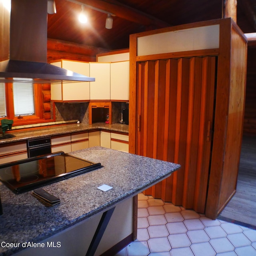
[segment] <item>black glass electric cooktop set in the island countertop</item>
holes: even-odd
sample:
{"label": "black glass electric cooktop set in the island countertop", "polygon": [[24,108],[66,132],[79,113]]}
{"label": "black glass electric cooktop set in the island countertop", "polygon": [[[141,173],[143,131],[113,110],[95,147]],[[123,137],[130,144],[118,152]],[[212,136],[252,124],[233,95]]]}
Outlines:
{"label": "black glass electric cooktop set in the island countertop", "polygon": [[101,167],[64,152],[0,164],[0,180],[19,194]]}

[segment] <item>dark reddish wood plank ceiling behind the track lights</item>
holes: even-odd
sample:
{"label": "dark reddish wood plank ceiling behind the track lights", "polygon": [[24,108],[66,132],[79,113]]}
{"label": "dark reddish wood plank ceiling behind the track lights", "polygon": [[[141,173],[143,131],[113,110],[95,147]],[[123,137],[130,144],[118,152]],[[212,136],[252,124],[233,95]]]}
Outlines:
{"label": "dark reddish wood plank ceiling behind the track lights", "polygon": [[[223,17],[224,0],[55,0],[56,14],[48,14],[48,38],[109,50],[129,47],[129,35],[161,27]],[[113,28],[106,29],[107,14],[84,8],[89,22],[77,19],[81,2],[111,12]],[[256,32],[256,0],[237,1],[237,24],[244,33]]]}

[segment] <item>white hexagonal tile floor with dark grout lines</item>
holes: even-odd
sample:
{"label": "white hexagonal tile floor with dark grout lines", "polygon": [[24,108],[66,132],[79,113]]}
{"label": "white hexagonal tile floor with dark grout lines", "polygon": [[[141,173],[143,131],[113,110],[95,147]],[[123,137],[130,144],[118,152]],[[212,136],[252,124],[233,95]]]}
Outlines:
{"label": "white hexagonal tile floor with dark grout lines", "polygon": [[138,196],[138,239],[116,256],[256,256],[256,230]]}

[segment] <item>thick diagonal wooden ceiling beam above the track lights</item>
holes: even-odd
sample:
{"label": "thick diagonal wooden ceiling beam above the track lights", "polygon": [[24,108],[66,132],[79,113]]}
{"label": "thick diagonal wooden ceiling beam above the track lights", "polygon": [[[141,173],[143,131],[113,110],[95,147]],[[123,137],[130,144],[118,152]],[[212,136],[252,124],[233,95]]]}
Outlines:
{"label": "thick diagonal wooden ceiling beam above the track lights", "polygon": [[[67,1],[74,2],[72,0]],[[144,12],[140,12],[139,10],[136,10],[125,4],[121,4],[116,0],[108,0],[108,2],[106,2],[105,0],[76,0],[76,3],[77,2],[93,6],[94,8],[98,8],[100,10],[103,10],[104,12],[110,12],[112,14],[115,14],[119,18],[142,24],[144,26],[150,26],[155,28],[165,28],[171,26],[167,22],[159,20]]]}

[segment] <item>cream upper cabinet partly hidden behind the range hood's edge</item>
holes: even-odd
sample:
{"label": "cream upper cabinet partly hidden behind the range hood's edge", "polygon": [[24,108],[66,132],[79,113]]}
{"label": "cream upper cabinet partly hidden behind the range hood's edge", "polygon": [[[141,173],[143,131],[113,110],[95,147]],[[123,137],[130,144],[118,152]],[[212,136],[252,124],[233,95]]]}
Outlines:
{"label": "cream upper cabinet partly hidden behind the range hood's edge", "polygon": [[[90,76],[90,65],[88,62],[61,60],[51,64],[84,76]],[[90,100],[90,82],[51,84],[51,100],[60,102]]]}

